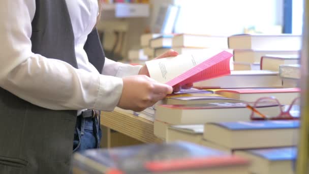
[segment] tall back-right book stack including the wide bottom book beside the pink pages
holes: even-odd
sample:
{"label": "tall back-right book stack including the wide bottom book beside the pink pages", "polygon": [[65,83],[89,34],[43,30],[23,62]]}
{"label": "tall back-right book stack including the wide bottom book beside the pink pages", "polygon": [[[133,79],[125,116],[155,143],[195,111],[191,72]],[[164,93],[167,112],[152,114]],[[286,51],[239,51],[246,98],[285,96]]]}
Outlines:
{"label": "tall back-right book stack including the wide bottom book beside the pink pages", "polygon": [[[233,72],[220,78],[200,81],[196,88],[283,88],[280,65],[298,64],[300,36],[233,35],[228,37],[233,50]],[[289,87],[295,87],[289,85]]]}

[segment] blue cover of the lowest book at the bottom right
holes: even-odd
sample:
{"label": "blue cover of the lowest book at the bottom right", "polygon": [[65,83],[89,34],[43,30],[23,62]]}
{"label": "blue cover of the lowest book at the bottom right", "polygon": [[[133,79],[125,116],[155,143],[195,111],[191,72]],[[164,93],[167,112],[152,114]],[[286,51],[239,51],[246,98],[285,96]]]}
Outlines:
{"label": "blue cover of the lowest book at the bottom right", "polygon": [[296,147],[256,149],[248,150],[246,152],[265,158],[269,161],[295,160],[297,156]]}

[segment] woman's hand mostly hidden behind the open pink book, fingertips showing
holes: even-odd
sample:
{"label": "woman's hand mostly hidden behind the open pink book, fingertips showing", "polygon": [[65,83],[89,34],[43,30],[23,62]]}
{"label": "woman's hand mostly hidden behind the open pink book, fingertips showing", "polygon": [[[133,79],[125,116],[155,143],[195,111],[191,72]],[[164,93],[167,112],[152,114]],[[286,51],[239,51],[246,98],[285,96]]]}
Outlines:
{"label": "woman's hand mostly hidden behind the open pink book, fingertips showing", "polygon": [[[176,55],[178,55],[178,52],[170,49],[170,50],[166,51],[165,53],[163,53],[162,55],[160,55],[160,56],[158,56],[154,59],[161,59],[161,58],[172,57],[172,56],[176,56]],[[146,65],[144,65],[141,68],[141,70],[139,71],[138,74],[139,75],[146,75],[146,76],[150,77],[149,71],[148,71]],[[177,92],[180,91],[180,89],[190,89],[190,88],[192,88],[192,86],[193,86],[193,83],[188,83],[188,84],[185,84],[185,85],[182,85],[182,86],[176,84],[175,86],[173,86],[173,92],[177,93]]]}

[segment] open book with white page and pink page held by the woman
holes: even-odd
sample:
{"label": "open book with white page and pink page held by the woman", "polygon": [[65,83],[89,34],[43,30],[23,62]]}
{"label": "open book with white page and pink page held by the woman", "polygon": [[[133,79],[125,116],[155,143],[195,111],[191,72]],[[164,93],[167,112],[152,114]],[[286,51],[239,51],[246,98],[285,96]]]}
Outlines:
{"label": "open book with white page and pink page held by the woman", "polygon": [[203,54],[180,54],[146,62],[150,77],[174,86],[229,75],[233,54],[221,50],[205,50]]}

